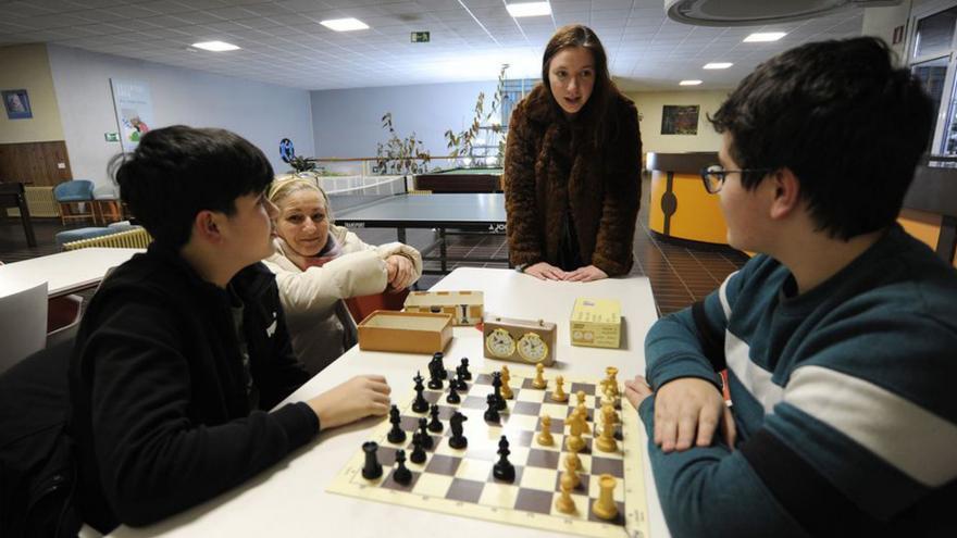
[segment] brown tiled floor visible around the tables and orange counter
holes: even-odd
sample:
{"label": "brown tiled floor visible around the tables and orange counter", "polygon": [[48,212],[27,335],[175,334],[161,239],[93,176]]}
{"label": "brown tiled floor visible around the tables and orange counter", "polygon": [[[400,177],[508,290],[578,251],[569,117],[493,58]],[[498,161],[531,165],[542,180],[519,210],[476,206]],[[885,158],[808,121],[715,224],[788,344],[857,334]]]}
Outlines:
{"label": "brown tiled floor visible around the tables and orange counter", "polygon": [[[747,257],[730,248],[697,248],[666,242],[655,238],[648,230],[648,182],[643,184],[642,211],[638,214],[639,226],[635,233],[634,251],[636,263],[632,274],[644,275],[651,280],[651,291],[659,314],[668,314],[688,306],[694,301],[713,291],[724,278],[741,267]],[[86,224],[88,226],[89,224]],[[84,224],[73,225],[82,227]],[[10,263],[39,255],[51,254],[60,249],[53,236],[64,229],[59,221],[36,220],[34,229],[37,235],[37,248],[26,246],[26,239],[18,220],[0,218],[0,261]],[[396,240],[394,229],[361,228],[359,236],[371,243],[383,243]],[[432,241],[428,230],[409,230],[408,241],[422,248]],[[506,258],[505,236],[456,236],[450,239],[449,255],[463,258]],[[456,266],[506,267],[505,264],[468,262],[452,264]],[[438,262],[428,262],[428,268],[439,268]],[[420,281],[427,289],[437,281],[438,276],[424,276]]]}

